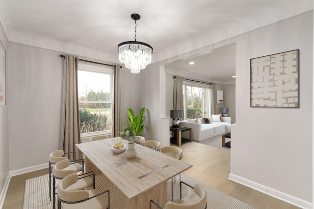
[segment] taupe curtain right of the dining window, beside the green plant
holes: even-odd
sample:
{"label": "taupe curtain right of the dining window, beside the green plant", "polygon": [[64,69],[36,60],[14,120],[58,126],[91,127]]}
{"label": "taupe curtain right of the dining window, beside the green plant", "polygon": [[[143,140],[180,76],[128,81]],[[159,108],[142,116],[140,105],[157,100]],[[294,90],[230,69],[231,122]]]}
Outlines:
{"label": "taupe curtain right of the dining window, beside the green plant", "polygon": [[111,98],[111,137],[119,137],[122,131],[121,122],[121,91],[120,91],[120,65],[113,67],[113,97]]}

